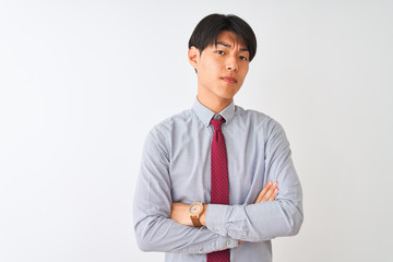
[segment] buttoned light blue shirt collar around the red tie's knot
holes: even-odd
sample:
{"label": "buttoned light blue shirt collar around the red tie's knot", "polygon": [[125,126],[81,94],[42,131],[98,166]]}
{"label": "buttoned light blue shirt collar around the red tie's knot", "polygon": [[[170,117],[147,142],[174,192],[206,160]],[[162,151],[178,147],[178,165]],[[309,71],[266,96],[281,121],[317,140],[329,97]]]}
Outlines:
{"label": "buttoned light blue shirt collar around the red tie's knot", "polygon": [[[216,115],[214,111],[212,111],[207,107],[203,106],[198,100],[198,98],[195,99],[192,110],[195,112],[196,117],[203,122],[205,128],[209,127],[211,119],[214,117],[214,115]],[[236,108],[235,108],[235,103],[233,100],[218,115],[221,115],[225,119],[226,124],[228,124],[233,120],[233,118],[235,116],[235,111],[236,111]]]}

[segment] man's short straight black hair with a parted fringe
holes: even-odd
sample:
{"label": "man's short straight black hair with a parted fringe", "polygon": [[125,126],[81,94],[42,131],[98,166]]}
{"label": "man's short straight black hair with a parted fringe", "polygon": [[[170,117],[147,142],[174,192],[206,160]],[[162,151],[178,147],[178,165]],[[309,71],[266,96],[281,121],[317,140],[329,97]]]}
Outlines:
{"label": "man's short straight black hair with a parted fringe", "polygon": [[217,45],[217,36],[222,31],[229,31],[239,36],[247,45],[249,61],[257,52],[257,38],[251,26],[235,14],[210,14],[199,22],[189,40],[189,49],[194,46],[200,53],[210,45]]}

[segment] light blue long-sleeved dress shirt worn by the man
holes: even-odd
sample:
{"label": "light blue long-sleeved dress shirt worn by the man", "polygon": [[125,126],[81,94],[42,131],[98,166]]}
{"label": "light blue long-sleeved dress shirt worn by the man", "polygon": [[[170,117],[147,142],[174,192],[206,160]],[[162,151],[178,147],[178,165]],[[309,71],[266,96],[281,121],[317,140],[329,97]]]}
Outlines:
{"label": "light blue long-sleeved dress shirt worn by the man", "polygon": [[[148,133],[138,179],[133,222],[143,251],[166,252],[166,261],[206,261],[206,253],[230,249],[231,262],[272,261],[271,239],[296,235],[302,193],[279,123],[234,102],[222,112],[229,205],[211,201],[211,146],[216,116],[194,106],[155,126]],[[269,181],[278,181],[275,201],[253,204]],[[198,229],[170,219],[172,202],[209,204],[206,226]],[[238,240],[243,240],[239,242]]]}

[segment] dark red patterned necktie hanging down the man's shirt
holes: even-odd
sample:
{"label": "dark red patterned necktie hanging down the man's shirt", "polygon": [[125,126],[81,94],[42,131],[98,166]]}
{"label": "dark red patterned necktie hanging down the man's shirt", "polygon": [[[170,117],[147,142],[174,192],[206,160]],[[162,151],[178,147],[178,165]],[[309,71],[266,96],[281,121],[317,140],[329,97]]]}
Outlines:
{"label": "dark red patterned necktie hanging down the man's shirt", "polygon": [[[224,134],[221,130],[224,118],[212,119],[214,128],[212,142],[212,204],[229,204],[228,159]],[[207,262],[229,262],[230,251],[225,249],[207,254]]]}

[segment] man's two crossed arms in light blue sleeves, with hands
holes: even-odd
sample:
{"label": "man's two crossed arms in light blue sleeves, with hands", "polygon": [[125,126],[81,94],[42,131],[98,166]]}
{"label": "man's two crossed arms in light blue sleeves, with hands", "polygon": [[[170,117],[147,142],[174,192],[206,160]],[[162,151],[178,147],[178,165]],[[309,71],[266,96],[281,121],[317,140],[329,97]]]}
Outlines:
{"label": "man's two crossed arms in light blue sleeves, with hands", "polygon": [[[134,228],[143,251],[209,253],[238,247],[239,240],[260,242],[298,233],[302,223],[301,187],[294,169],[285,134],[272,132],[266,143],[264,169],[279,184],[279,194],[267,184],[253,204],[209,204],[204,227],[191,226],[188,205],[172,202],[169,158],[162,138],[146,140],[141,176],[134,198]],[[277,184],[276,184],[277,187]],[[273,190],[273,198],[272,198]],[[274,200],[274,201],[273,201]],[[184,226],[189,225],[189,226]]]}

